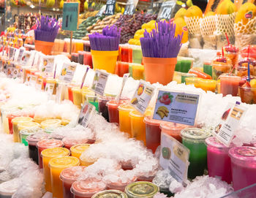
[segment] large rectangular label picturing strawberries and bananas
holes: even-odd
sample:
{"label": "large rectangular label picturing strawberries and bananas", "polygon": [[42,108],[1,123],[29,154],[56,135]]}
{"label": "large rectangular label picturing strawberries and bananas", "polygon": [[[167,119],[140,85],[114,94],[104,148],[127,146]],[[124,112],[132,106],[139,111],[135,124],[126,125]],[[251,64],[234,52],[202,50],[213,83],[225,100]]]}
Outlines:
{"label": "large rectangular label picturing strawberries and bananas", "polygon": [[159,90],[153,119],[194,126],[200,94]]}

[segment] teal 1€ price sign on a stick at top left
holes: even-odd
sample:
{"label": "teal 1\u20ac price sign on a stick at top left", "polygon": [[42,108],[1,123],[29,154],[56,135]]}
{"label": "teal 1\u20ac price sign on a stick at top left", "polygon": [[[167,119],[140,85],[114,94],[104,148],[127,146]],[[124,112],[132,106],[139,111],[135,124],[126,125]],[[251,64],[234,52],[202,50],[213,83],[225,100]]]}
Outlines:
{"label": "teal 1\u20ac price sign on a stick at top left", "polygon": [[78,30],[79,7],[80,3],[64,3],[61,29],[69,31]]}

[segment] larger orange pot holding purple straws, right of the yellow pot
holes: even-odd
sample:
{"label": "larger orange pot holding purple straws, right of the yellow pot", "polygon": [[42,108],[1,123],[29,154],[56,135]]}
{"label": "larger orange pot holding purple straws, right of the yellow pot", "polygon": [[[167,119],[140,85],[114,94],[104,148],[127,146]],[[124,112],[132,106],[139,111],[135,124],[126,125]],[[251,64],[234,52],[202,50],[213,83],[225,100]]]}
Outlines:
{"label": "larger orange pot holding purple straws, right of the yellow pot", "polygon": [[167,85],[173,80],[177,58],[149,58],[143,57],[145,66],[145,80],[150,83]]}

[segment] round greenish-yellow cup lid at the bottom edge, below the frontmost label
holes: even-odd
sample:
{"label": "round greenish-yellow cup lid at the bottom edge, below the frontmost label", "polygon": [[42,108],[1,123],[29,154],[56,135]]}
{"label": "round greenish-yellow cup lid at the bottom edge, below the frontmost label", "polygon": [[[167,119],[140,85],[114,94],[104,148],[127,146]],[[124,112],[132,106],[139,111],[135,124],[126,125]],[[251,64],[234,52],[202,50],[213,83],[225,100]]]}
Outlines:
{"label": "round greenish-yellow cup lid at the bottom edge, below the frontmost label", "polygon": [[125,188],[125,193],[129,198],[153,198],[159,192],[159,187],[148,181],[138,181],[130,183]]}

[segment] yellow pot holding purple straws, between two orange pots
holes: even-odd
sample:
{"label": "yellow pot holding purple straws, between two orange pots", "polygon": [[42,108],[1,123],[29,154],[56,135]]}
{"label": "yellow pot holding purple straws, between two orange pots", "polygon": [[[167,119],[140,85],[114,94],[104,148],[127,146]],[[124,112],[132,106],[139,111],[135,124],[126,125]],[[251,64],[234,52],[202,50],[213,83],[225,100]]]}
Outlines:
{"label": "yellow pot holding purple straws, between two orange pots", "polygon": [[116,69],[116,61],[118,50],[116,51],[97,51],[91,50],[92,62],[95,69],[104,69],[114,74]]}

